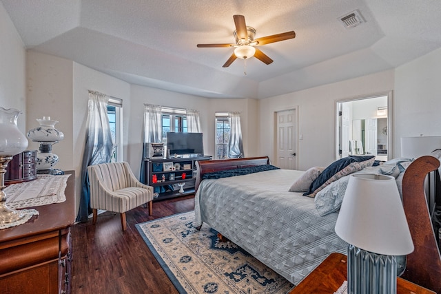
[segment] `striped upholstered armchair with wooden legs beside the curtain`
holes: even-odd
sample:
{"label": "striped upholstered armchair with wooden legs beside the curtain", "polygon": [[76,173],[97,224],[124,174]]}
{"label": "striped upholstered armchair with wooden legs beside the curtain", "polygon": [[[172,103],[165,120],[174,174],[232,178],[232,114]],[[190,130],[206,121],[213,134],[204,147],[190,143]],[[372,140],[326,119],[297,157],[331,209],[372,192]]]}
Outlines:
{"label": "striped upholstered armchair with wooden legs beside the curtain", "polygon": [[126,211],[148,202],[149,215],[152,215],[153,187],[136,180],[127,162],[90,165],[88,173],[93,224],[96,223],[98,209],[121,213],[123,231],[127,229]]}

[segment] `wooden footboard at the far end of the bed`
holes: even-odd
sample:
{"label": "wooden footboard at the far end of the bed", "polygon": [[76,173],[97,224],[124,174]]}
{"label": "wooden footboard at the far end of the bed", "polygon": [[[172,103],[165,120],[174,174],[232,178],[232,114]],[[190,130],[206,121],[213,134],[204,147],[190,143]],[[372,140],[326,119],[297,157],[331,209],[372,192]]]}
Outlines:
{"label": "wooden footboard at the far end of the bed", "polygon": [[198,191],[199,183],[203,174],[213,173],[215,171],[225,171],[227,169],[240,169],[243,167],[255,167],[256,165],[269,165],[268,156],[232,158],[220,160],[199,160],[196,162],[196,184],[195,193]]}

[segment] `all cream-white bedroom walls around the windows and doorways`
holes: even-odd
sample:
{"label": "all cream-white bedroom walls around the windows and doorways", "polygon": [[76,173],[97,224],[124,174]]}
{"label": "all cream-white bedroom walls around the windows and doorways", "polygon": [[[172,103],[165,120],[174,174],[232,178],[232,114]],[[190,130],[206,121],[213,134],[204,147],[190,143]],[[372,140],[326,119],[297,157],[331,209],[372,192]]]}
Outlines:
{"label": "all cream-white bedroom walls around the windows and doorways", "polygon": [[[393,90],[393,153],[400,156],[402,136],[440,136],[441,49],[398,67],[369,76],[255,101],[209,99],[129,85],[72,61],[38,52],[25,53],[23,42],[0,3],[0,106],[14,107],[23,133],[36,118],[51,116],[65,139],[54,145],[57,167],[75,169],[79,177],[87,117],[87,90],[123,99],[125,160],[139,174],[143,104],[198,109],[207,154],[214,154],[214,113],[238,111],[246,156],[274,157],[274,112],[298,106],[298,167],[325,166],[335,158],[337,100]],[[26,74],[28,76],[26,76]],[[26,83],[28,83],[26,87]],[[295,81],[293,81],[295,83]],[[32,143],[31,147],[38,147]],[[79,191],[76,191],[79,194]]]}

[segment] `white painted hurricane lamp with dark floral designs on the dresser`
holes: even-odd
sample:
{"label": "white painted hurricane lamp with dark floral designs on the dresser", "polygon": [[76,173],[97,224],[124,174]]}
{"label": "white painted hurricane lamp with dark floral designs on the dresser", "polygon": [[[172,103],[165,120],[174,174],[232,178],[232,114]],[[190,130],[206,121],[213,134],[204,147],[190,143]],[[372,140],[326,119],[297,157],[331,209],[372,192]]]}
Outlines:
{"label": "white painted hurricane lamp with dark floral designs on the dresser", "polygon": [[37,173],[52,174],[54,165],[57,165],[59,157],[52,153],[52,145],[63,140],[64,134],[55,128],[58,120],[51,120],[50,116],[37,118],[39,127],[28,131],[28,138],[34,142],[39,142],[39,153],[37,154]]}

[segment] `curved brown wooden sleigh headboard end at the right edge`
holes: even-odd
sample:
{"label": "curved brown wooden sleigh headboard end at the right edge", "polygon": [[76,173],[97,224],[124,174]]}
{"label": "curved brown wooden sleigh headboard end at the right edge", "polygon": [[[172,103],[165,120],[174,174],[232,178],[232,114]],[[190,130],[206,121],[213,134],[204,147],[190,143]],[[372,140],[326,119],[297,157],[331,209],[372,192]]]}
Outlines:
{"label": "curved brown wooden sleigh headboard end at the right edge", "polygon": [[407,255],[402,277],[436,293],[441,293],[441,256],[424,195],[424,179],[439,166],[437,158],[422,156],[409,165],[402,180],[404,211],[415,246]]}

